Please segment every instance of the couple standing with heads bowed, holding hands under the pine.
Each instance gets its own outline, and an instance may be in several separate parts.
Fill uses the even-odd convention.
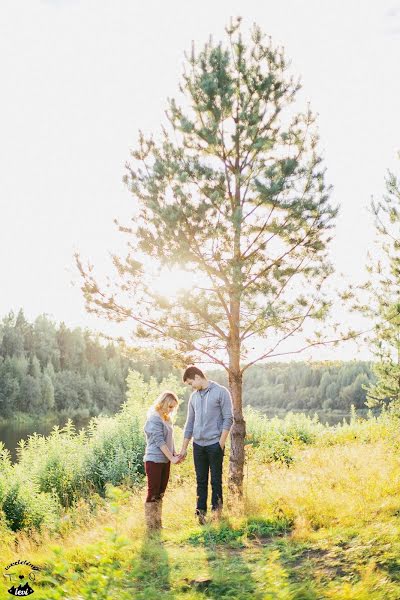
[[[197,481],[196,515],[204,524],[207,513],[208,478],[211,473],[211,504],[214,514],[222,509],[222,463],[225,442],[233,423],[232,398],[226,387],[207,379],[195,366],[186,368],[183,383],[189,385],[190,395],[184,440],[179,453],[175,452],[172,415],[179,401],[174,392],[160,394],[147,414],[144,431],[144,455],[147,475],[145,502],[146,524],[149,530],[161,525],[162,499],[167,488],[171,463],[185,460],[187,447],[193,437],[193,459]]]

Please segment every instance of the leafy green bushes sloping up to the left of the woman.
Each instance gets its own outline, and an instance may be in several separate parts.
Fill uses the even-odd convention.
[[[14,465],[0,446],[0,509],[11,529],[56,526],[61,509],[81,498],[105,497],[110,484],[142,483],[146,409],[162,390],[183,386],[173,375],[146,383],[132,371],[128,379],[128,399],[114,417],[94,417],[79,433],[69,420],[47,437],[33,434],[21,440]]]

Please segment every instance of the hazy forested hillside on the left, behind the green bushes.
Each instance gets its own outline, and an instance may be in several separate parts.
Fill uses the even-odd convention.
[[[46,315],[29,323],[20,310],[0,323],[0,418],[85,418],[115,413],[124,401],[129,368],[160,381],[171,365],[139,349],[104,345],[87,329],[56,326]]]

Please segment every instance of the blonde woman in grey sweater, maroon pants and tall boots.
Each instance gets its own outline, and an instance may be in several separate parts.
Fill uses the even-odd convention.
[[[175,454],[171,419],[178,404],[174,392],[163,392],[149,409],[144,426],[146,450],[143,461],[147,475],[145,516],[149,530],[162,527],[162,498],[167,488],[171,462],[180,462],[180,457]]]

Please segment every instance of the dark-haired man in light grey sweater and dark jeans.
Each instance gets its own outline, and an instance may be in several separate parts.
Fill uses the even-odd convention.
[[[187,367],[183,383],[194,391],[188,403],[184,440],[180,458],[187,454],[193,436],[193,458],[197,480],[196,515],[204,525],[207,513],[208,474],[211,473],[211,505],[214,515],[221,514],[222,463],[225,442],[233,423],[232,398],[229,390],[216,381],[207,379],[195,366]]]

